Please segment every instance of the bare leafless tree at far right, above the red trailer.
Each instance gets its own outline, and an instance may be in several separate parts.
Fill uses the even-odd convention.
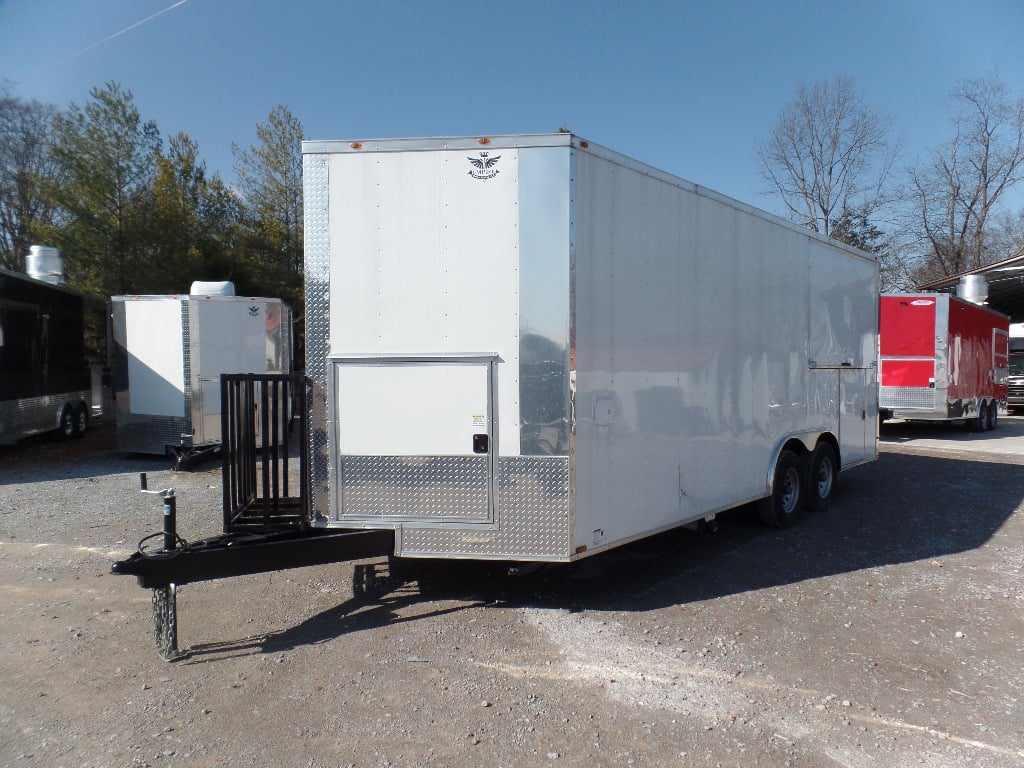
[[[953,137],[910,171],[914,211],[928,253],[922,280],[957,274],[1012,255],[992,237],[993,213],[1024,178],[1024,99],[995,78],[953,91]]]

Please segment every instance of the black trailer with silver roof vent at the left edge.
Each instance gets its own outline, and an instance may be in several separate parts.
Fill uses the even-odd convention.
[[[0,269],[0,442],[49,430],[81,437],[94,415],[85,343],[93,302],[63,287],[55,248],[33,246],[27,266]]]

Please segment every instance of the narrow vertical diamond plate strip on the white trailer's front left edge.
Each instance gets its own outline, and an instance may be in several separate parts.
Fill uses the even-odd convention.
[[[328,202],[328,156],[302,156],[305,221],[306,376],[312,382],[309,419],[309,485],[312,513],[330,516],[328,482],[331,463],[327,428],[327,353],[330,347],[331,239]]]

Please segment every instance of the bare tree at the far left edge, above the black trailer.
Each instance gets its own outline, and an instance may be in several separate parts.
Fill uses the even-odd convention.
[[[54,221],[44,193],[60,182],[54,161],[56,110],[15,98],[0,87],[0,266],[25,270],[25,255],[40,229]]]

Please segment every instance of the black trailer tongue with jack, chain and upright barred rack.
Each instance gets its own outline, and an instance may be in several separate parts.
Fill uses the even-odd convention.
[[[163,528],[144,538],[138,551],[115,562],[114,573],[134,575],[152,589],[154,630],[160,654],[175,660],[185,654],[177,642],[177,588],[213,579],[324,565],[380,557],[394,550],[394,531],[311,528],[305,516],[307,486],[303,439],[298,477],[290,452],[290,406],[304,413],[301,376],[242,374],[221,379],[224,532],[186,542],[177,532],[174,488],[143,493],[163,501]],[[305,430],[302,436],[305,437]],[[297,495],[293,492],[297,490]],[[147,546],[160,540],[160,549]]]

